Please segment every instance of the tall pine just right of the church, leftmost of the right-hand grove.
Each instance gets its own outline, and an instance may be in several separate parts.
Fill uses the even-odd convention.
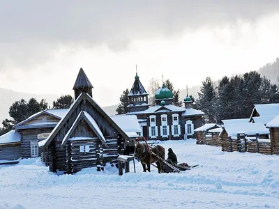
[[[210,77],[206,77],[202,82],[200,91],[199,99],[196,102],[198,109],[204,111],[209,123],[216,122],[216,92]]]

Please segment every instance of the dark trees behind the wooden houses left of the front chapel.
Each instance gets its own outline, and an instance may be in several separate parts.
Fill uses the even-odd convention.
[[[60,98],[52,102],[52,109],[68,109],[73,102],[74,100],[71,95],[61,95]],[[8,112],[10,119],[6,118],[2,122],[3,127],[0,127],[0,136],[12,130],[13,126],[17,123],[20,123],[33,114],[45,109],[51,109],[45,99],[40,100],[40,102],[38,102],[35,98],[31,98],[28,102],[24,99],[14,102],[10,106]]]

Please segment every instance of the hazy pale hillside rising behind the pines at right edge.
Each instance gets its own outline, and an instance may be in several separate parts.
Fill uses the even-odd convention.
[[[279,84],[279,58],[273,63],[268,63],[262,68],[259,68],[258,72],[264,75],[267,79],[271,80],[272,84]],[[279,85],[278,85],[279,86]]]

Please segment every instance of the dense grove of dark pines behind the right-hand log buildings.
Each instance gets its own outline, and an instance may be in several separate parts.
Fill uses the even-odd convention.
[[[257,71],[231,78],[225,76],[216,84],[206,77],[198,95],[197,108],[204,111],[208,123],[250,118],[253,104],[279,102],[278,86]]]

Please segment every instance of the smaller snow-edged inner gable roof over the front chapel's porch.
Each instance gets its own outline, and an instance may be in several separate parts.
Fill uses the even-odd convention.
[[[88,114],[88,112],[86,112],[86,111],[81,111],[80,114],[77,116],[77,118],[75,119],[75,122],[73,123],[73,125],[70,127],[67,134],[63,138],[61,145],[65,146],[66,142],[70,138],[70,135],[73,134],[78,123],[80,123],[80,121],[82,119],[84,119],[84,121],[86,121],[88,123],[88,125],[91,127],[93,132],[97,135],[98,139],[100,139],[100,141],[102,141],[103,144],[105,144],[105,146],[107,146],[107,142],[105,141],[105,137],[103,136],[103,133],[100,130],[100,127],[98,126],[96,121],[92,118],[92,116],[90,114]],[[80,137],[82,137],[82,136],[80,136]]]

